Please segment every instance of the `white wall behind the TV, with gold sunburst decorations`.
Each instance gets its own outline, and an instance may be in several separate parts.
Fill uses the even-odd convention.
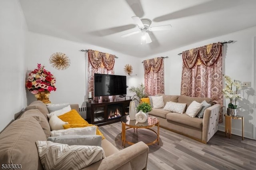
[[[114,54],[118,57],[115,62],[115,74],[124,75],[124,65],[131,64],[134,68],[134,74],[138,72],[139,59],[129,55],[124,55],[110,49],[97,47],[90,44],[81,44],[71,42],[60,38],[46,36],[28,32],[28,43],[26,49],[26,71],[29,73],[36,68],[37,63],[45,65],[45,69],[50,71],[56,77],[56,91],[50,94],[52,103],[78,103],[83,105],[86,94],[86,58],[85,52],[80,49],[94,49],[106,53]],[[49,63],[49,58],[53,53],[62,52],[70,58],[70,67],[66,70],[57,70]],[[137,85],[136,76],[127,76],[127,85]],[[36,98],[27,91],[28,104],[35,101]]]

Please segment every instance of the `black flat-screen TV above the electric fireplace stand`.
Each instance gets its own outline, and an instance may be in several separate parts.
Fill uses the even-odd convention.
[[[126,76],[94,73],[94,97],[126,95]]]

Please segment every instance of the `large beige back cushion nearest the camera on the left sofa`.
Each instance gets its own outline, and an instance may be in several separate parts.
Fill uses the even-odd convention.
[[[0,134],[0,164],[21,164],[24,170],[43,170],[36,140],[46,140],[46,136],[34,117],[12,122]]]

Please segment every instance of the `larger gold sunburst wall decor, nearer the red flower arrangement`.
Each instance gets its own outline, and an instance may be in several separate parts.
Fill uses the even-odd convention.
[[[70,66],[70,59],[64,53],[53,53],[49,61],[52,67],[58,70],[64,70]]]

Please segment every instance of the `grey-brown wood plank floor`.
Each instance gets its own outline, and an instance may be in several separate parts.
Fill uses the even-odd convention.
[[[121,123],[99,127],[105,138],[119,150],[121,143]],[[156,127],[153,128],[157,130]],[[127,130],[126,140],[132,142],[154,140],[156,134],[150,130]],[[126,147],[129,145],[126,144]],[[218,131],[207,144],[203,144],[181,134],[160,128],[160,144],[149,146],[148,170],[256,170],[256,140],[232,135],[225,137]]]

